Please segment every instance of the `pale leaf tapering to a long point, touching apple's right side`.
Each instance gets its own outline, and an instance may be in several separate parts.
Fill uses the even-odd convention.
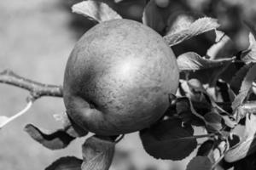
[[[204,59],[199,54],[188,52],[177,57],[177,65],[180,71],[197,71],[227,65],[234,59]]]

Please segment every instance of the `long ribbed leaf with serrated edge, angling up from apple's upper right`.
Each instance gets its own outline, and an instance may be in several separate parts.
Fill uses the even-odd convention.
[[[180,27],[179,30],[167,34],[164,39],[170,45],[176,45],[177,43],[183,42],[191,37],[200,35],[201,33],[211,31],[218,28],[218,22],[215,19],[204,17],[191,24]]]

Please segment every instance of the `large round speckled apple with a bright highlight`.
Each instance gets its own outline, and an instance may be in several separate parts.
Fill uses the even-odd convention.
[[[98,135],[132,133],[160,119],[176,94],[177,61],[160,35],[134,20],[102,22],[67,61],[67,114]]]

